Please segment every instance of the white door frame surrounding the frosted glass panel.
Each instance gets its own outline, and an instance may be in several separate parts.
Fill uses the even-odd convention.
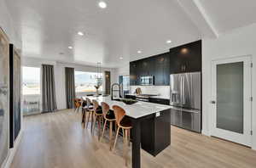
[[[216,101],[216,66],[217,64],[228,64],[228,63],[244,63],[243,80],[244,82],[243,95],[244,95],[244,111],[250,111],[249,113],[244,113],[243,119],[243,134],[236,132],[230,132],[227,130],[222,130],[216,127],[216,104],[212,104],[212,113],[209,115],[210,119],[210,136],[224,138],[235,143],[241,143],[243,145],[251,147],[252,145],[252,57],[251,56],[241,56],[241,57],[231,57],[226,59],[214,59],[212,60],[212,100]]]

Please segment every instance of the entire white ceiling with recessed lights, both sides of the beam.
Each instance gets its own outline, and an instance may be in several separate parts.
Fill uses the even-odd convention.
[[[105,9],[98,8],[97,0],[6,3],[21,36],[24,56],[120,67],[127,61],[164,53],[205,36],[201,25],[191,20],[179,1],[182,0],[106,0]],[[241,0],[194,1],[206,9],[219,32],[256,21],[253,0],[247,0],[247,4]],[[83,31],[84,36],[78,36],[78,31]],[[172,43],[166,44],[169,39]]]

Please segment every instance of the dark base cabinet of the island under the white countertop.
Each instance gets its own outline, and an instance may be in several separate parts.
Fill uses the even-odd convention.
[[[160,112],[160,116],[152,115],[141,123],[142,148],[156,156],[171,144],[170,109]]]

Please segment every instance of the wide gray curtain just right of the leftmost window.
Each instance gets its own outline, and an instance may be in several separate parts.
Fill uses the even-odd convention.
[[[42,65],[42,111],[54,112],[57,109],[55,96],[55,74],[53,65]]]

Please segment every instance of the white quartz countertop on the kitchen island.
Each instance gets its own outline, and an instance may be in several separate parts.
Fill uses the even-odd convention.
[[[92,99],[96,99],[99,104],[105,102],[109,105],[110,109],[112,109],[113,105],[119,105],[119,107],[125,109],[126,115],[130,116],[131,118],[140,118],[146,115],[152,115],[154,113],[171,109],[170,105],[163,105],[163,104],[154,104],[148,102],[141,102],[138,101],[136,104],[125,104],[120,101],[111,100],[110,97],[87,97]]]

